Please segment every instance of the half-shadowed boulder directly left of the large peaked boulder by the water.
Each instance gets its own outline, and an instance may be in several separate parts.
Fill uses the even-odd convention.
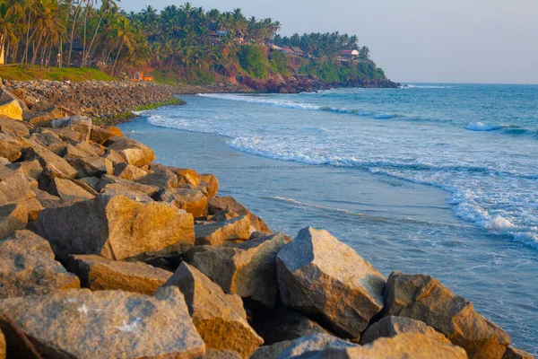
[[[195,247],[187,252],[186,258],[221,285],[224,292],[274,308],[278,295],[276,255],[290,241],[290,237],[278,233],[229,247]]]

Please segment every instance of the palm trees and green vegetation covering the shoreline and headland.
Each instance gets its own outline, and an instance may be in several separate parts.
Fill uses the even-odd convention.
[[[369,48],[360,47],[355,35],[288,38],[277,34],[280,22],[247,18],[240,9],[222,13],[186,3],[161,12],[147,5],[139,13],[126,13],[118,3],[0,0],[0,51],[5,51],[6,63],[17,64],[0,66],[0,76],[82,81],[142,71],[168,84],[206,84],[230,77],[267,80],[298,71],[329,82],[384,78],[369,59]],[[284,54],[270,45],[294,50]],[[359,55],[339,58],[342,49],[358,50]]]

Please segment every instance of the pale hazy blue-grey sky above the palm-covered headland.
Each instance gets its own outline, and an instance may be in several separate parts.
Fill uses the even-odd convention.
[[[193,0],[272,17],[282,35],[357,34],[397,82],[538,83],[538,0]],[[123,0],[126,11],[178,0]]]

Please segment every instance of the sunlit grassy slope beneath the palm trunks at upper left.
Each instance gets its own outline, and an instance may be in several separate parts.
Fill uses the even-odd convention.
[[[108,74],[92,68],[25,68],[17,65],[0,66],[0,78],[13,81],[69,80],[73,83],[86,80],[112,80],[112,77],[108,76]]]

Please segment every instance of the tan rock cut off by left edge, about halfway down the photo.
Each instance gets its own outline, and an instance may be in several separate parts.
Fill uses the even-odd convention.
[[[30,182],[20,170],[0,168],[0,206],[18,203],[36,197]]]

